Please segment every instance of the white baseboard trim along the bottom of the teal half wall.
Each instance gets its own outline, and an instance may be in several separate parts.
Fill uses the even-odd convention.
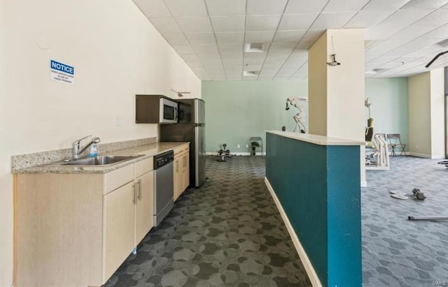
[[[309,281],[311,281],[311,285],[321,287],[322,286],[321,281],[319,280],[313,265],[311,265],[311,261],[309,260],[307,253],[305,252],[305,249],[303,248],[302,244],[300,244],[299,238],[297,237],[297,234],[295,234],[294,228],[291,225],[285,211],[283,210],[279,198],[277,198],[274,189],[272,189],[272,186],[269,183],[269,179],[267,179],[267,177],[265,177],[265,184],[267,186],[267,189],[269,190],[269,193],[271,193],[272,198],[274,198],[274,203],[277,206],[277,209],[279,209],[281,219],[283,219],[283,222],[286,225],[286,229],[288,229],[288,233],[291,237],[291,240],[293,240],[295,250],[299,254],[300,260],[302,260],[305,272],[307,272]]]

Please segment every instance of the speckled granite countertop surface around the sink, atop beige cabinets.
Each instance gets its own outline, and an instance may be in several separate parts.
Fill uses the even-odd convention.
[[[110,165],[62,165],[66,162],[57,161],[45,165],[36,165],[31,168],[22,168],[20,170],[15,170],[14,173],[106,173],[188,143],[189,142],[155,142],[149,145],[139,145],[138,147],[130,147],[127,149],[119,149],[114,152],[108,152],[106,154],[99,154],[100,156],[141,155],[128,161],[112,163]]]

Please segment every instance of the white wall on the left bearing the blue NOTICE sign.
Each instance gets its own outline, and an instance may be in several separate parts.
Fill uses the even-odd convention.
[[[10,156],[69,148],[90,134],[102,142],[157,136],[158,125],[134,124],[135,94],[200,98],[201,82],[132,1],[0,5],[0,286],[10,286]],[[50,59],[74,66],[73,85],[50,80]]]

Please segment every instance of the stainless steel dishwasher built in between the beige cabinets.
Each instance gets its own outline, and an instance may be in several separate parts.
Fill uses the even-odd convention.
[[[154,156],[154,224],[158,226],[174,207],[174,152]]]

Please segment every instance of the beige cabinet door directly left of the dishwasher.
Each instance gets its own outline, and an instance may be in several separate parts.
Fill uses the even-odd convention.
[[[137,206],[135,209],[135,246],[154,226],[153,171],[136,179]]]

